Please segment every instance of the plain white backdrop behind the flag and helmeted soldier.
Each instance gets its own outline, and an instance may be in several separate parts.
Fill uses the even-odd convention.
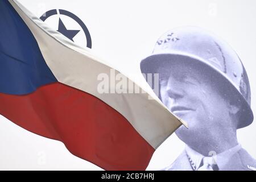
[[[256,1],[254,0],[168,0],[168,1],[82,1],[18,0],[36,16],[51,9],[64,9],[79,16],[92,36],[92,51],[135,77],[139,62],[150,55],[156,40],[178,26],[199,26],[221,36],[236,50],[251,84],[251,107],[256,107]],[[56,15],[57,16],[57,15]],[[61,18],[68,29],[79,26]],[[46,22],[57,30],[56,20]],[[75,42],[85,46],[79,32]],[[256,123],[238,130],[238,140],[256,158]],[[184,144],[171,135],[156,150],[147,169],[170,165]],[[40,137],[16,126],[0,115],[0,169],[101,169],[72,155],[64,144]]]

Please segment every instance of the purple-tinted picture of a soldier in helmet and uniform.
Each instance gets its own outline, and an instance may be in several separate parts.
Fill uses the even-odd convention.
[[[175,131],[184,151],[163,170],[255,170],[237,130],[253,122],[249,78],[228,43],[200,27],[167,31],[141,61],[159,74],[158,97],[188,123]]]

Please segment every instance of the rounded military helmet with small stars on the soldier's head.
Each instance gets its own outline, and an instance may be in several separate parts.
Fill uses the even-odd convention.
[[[142,73],[157,73],[163,61],[188,60],[204,65],[220,75],[237,94],[241,114],[237,128],[253,122],[247,73],[237,53],[224,40],[199,27],[179,27],[167,31],[155,44],[152,55],[141,61]]]

